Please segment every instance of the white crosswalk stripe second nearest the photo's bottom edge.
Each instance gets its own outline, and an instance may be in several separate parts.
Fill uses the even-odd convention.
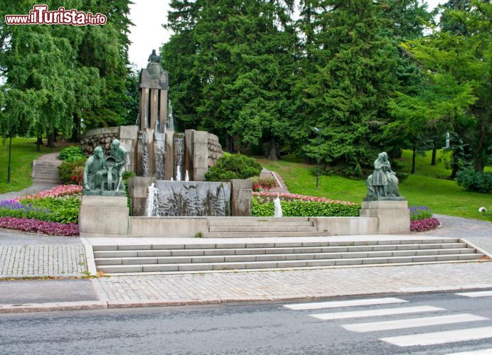
[[[380,338],[380,340],[397,346],[415,346],[466,342],[468,340],[487,338],[492,338],[492,327],[457,329],[449,330],[446,332],[403,335],[400,337]]]

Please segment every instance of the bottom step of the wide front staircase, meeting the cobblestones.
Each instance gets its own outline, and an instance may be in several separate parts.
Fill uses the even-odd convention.
[[[320,266],[356,266],[386,263],[429,263],[446,261],[472,261],[483,257],[481,253],[446,254],[437,256],[395,256],[374,258],[338,258],[338,259],[308,259],[285,261],[252,261],[228,263],[173,263],[173,264],[135,264],[99,266],[98,271],[107,274],[117,273],[151,273],[176,271],[213,271],[234,269],[274,269],[274,268],[309,268]]]

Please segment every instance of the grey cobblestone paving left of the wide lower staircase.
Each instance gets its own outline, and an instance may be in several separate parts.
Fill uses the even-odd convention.
[[[0,278],[80,276],[86,270],[82,245],[0,246]]]

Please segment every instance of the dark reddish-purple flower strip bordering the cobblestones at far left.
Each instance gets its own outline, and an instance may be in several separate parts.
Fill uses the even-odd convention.
[[[75,223],[46,222],[38,219],[0,217],[0,227],[49,234],[52,236],[78,236],[79,226]]]

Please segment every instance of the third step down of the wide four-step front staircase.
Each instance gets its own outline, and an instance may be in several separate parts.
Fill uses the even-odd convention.
[[[173,263],[236,263],[256,261],[291,261],[314,259],[346,258],[390,258],[397,256],[439,256],[475,253],[475,249],[427,249],[411,251],[354,251],[346,253],[278,253],[261,255],[210,255],[210,256],[161,256],[136,258],[95,258],[96,265],[133,265],[133,264],[173,264]]]

